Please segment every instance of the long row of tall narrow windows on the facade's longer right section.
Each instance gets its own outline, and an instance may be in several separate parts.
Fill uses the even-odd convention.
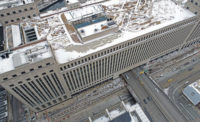
[[[73,92],[88,84],[93,85],[93,82],[182,44],[191,29],[192,26],[187,25],[154,40],[137,46],[129,46],[97,61],[73,68],[63,74],[66,85]]]

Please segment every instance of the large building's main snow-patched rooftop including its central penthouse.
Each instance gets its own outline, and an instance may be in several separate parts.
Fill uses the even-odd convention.
[[[21,35],[23,44],[29,43],[30,40],[47,39],[55,59],[59,64],[63,64],[193,16],[195,15],[192,12],[171,0],[153,0],[139,5],[135,0],[109,0],[75,10],[48,13],[46,17],[42,15],[24,20],[19,24],[22,28],[20,32],[17,26],[11,26],[11,29],[17,30],[13,37]],[[31,33],[34,37],[31,35],[28,38],[26,33],[24,34],[26,29],[32,29],[28,36]],[[103,34],[105,29],[110,32]],[[99,34],[101,32],[102,34]],[[93,35],[96,38],[83,41],[83,38]],[[19,44],[20,41],[13,42],[14,47]],[[4,60],[1,59],[0,62]],[[0,66],[0,69],[3,67]]]

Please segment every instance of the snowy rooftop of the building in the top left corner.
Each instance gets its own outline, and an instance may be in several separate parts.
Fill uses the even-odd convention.
[[[33,3],[34,0],[1,0],[0,1],[0,10],[12,8],[24,4]]]

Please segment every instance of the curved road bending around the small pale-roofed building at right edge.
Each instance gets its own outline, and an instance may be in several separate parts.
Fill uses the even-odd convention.
[[[192,70],[188,70],[193,67]],[[171,77],[174,80],[174,83],[169,87],[168,96],[174,102],[179,109],[182,110],[183,114],[187,116],[189,121],[198,120],[200,116],[195,109],[192,108],[191,103],[184,99],[182,94],[182,89],[188,84],[195,82],[200,79],[200,63],[192,65],[189,68],[184,69],[182,72]],[[188,83],[186,83],[188,81]]]

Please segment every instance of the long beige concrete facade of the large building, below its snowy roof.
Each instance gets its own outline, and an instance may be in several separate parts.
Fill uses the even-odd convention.
[[[54,57],[0,75],[0,84],[35,112],[171,51],[199,42],[195,16],[109,48],[58,64]]]

